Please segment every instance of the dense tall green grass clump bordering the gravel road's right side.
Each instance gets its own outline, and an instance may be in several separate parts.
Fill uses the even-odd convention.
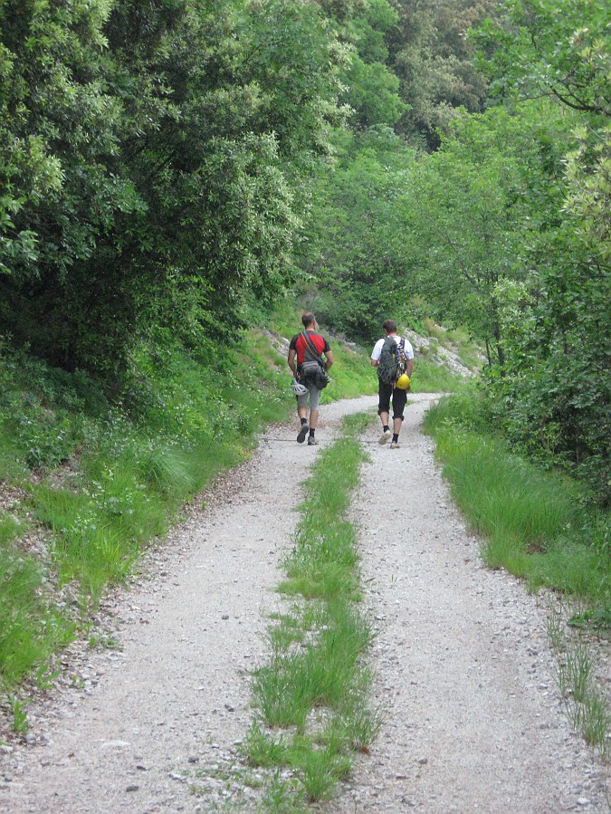
[[[512,455],[469,410],[460,399],[442,402],[425,428],[435,436],[454,498],[482,533],[486,562],[533,589],[545,585],[609,608],[608,514],[588,509],[567,477]]]

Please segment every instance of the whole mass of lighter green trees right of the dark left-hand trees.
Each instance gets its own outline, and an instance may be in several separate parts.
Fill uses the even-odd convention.
[[[466,326],[487,351],[491,421],[608,503],[608,15],[588,0],[508,2],[485,24],[483,4],[402,7],[413,25],[407,39],[396,26],[389,53],[410,66],[412,107],[395,131],[380,119],[337,137],[298,254],[305,284],[318,281],[311,302],[362,340],[388,315],[415,326],[423,301]],[[451,48],[458,19],[469,35]],[[433,70],[455,79],[459,64],[473,82],[463,72],[462,101],[450,82],[435,108]]]

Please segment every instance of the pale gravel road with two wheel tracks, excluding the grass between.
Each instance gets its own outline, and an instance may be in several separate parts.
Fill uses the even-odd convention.
[[[571,732],[555,683],[544,603],[482,567],[434,468],[414,396],[399,449],[362,440],[355,500],[377,637],[370,659],[384,724],[353,778],[320,810],[557,814],[609,810],[608,770]],[[27,743],[0,747],[0,810],[114,814],[254,812],[226,795],[252,720],[248,671],[263,664],[279,560],[308,466],[365,397],[321,408],[319,447],[271,427],[209,508],[190,512],[140,577],[102,608],[100,638],[75,643],[58,686],[27,708]],[[382,484],[396,485],[389,511]],[[607,664],[608,668],[608,664]],[[239,786],[239,782],[238,782]]]

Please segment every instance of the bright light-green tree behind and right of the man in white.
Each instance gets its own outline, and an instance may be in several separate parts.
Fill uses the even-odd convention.
[[[415,165],[402,198],[421,291],[441,319],[466,324],[485,342],[490,362],[501,365],[496,286],[525,275],[521,244],[530,232],[521,112],[454,120],[440,149]]]

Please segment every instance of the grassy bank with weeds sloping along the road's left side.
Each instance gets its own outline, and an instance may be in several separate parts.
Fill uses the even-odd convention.
[[[7,343],[0,382],[0,489],[21,495],[0,517],[0,687],[12,691],[74,633],[53,593],[72,583],[86,614],[293,399],[256,353],[211,360],[154,341],[134,349],[113,402]],[[26,510],[48,562],[20,553]]]

